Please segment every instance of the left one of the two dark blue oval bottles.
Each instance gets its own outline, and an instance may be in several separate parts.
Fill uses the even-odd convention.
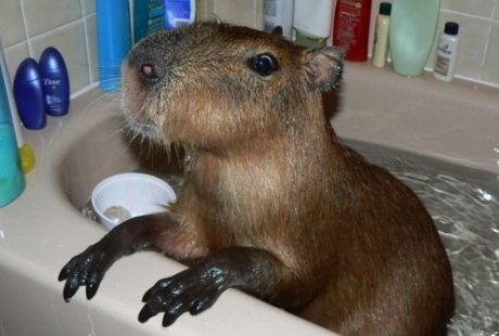
[[[27,129],[42,129],[47,125],[43,83],[37,61],[24,60],[14,77],[14,98],[21,121]]]

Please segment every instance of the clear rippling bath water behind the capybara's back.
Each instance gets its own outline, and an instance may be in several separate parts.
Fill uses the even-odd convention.
[[[423,201],[452,267],[452,336],[499,336],[499,179],[497,175],[357,141]]]

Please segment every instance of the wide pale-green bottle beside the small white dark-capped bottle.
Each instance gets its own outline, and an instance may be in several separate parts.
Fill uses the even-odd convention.
[[[415,77],[423,73],[435,40],[440,0],[396,0],[392,4],[389,51],[394,70]]]

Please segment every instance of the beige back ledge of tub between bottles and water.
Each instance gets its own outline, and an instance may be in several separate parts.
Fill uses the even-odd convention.
[[[499,173],[497,88],[347,62],[337,111],[340,137]]]

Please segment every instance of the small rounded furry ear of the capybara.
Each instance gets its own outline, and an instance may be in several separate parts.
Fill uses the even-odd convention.
[[[308,85],[321,92],[335,89],[342,79],[344,51],[336,47],[309,50],[305,55]]]

